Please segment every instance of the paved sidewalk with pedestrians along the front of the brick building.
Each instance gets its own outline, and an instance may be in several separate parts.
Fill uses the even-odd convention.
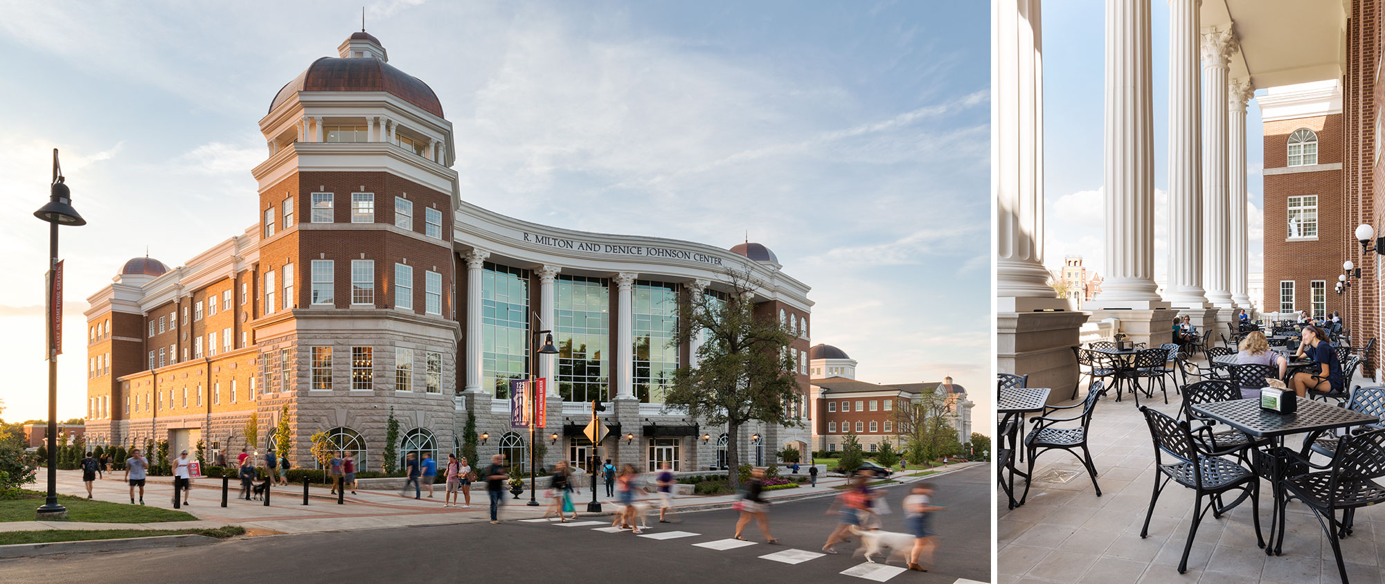
[[[935,477],[942,473],[985,465],[986,462],[965,462],[949,465],[939,469]],[[913,473],[915,471],[910,471]],[[802,475],[802,473],[801,473]],[[96,500],[111,502],[129,502],[129,486],[120,480],[122,472],[107,472],[105,479],[94,483],[93,494]],[[787,475],[795,476],[795,475]],[[899,476],[896,480],[909,483],[921,480],[920,477]],[[798,489],[774,490],[765,494],[770,501],[792,501],[809,497],[825,497],[838,493],[834,486],[845,483],[843,477],[825,477],[817,480],[817,487],[801,486]],[[43,484],[30,489],[42,490]],[[150,477],[144,489],[145,505],[155,505],[166,509],[173,508],[172,477]],[[86,495],[80,471],[58,471],[58,493],[71,495]],[[402,497],[397,491],[357,491],[346,494],[345,504],[338,505],[337,497],[330,494],[327,487],[309,487],[309,504],[303,505],[303,484],[289,487],[271,487],[270,507],[263,501],[245,501],[235,498],[240,493],[237,482],[231,483],[227,497],[227,507],[222,508],[222,480],[194,479],[190,504],[180,511],[198,518],[194,522],[161,522],[161,523],[78,523],[78,522],[0,522],[0,531],[46,530],[46,529],[181,529],[181,527],[222,527],[237,524],[258,533],[312,533],[312,531],[345,531],[356,529],[385,529],[385,527],[413,527],[447,523],[474,523],[489,520],[489,502],[485,486],[472,487],[471,508],[443,508],[446,489],[435,486],[434,498],[428,498],[427,491],[422,500]],[[543,490],[539,491],[543,494]],[[644,497],[648,498],[648,497]],[[708,508],[730,507],[737,498],[729,495],[683,495],[674,504],[674,509],[698,511]],[[605,495],[604,486],[597,487],[597,501],[602,504],[602,515],[609,513],[615,505],[614,497]],[[591,501],[591,493],[586,489],[580,494],[573,494],[573,505],[579,515],[584,515],[586,504]],[[501,520],[535,519],[543,516],[547,505],[540,498],[539,507],[528,507],[529,493],[525,491],[519,500],[506,493],[506,505],[500,509]]]

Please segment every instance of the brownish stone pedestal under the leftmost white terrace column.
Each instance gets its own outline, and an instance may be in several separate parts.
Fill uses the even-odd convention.
[[[1029,375],[1030,387],[1048,387],[1048,403],[1072,397],[1078,385],[1078,346],[1087,313],[1078,311],[1000,311],[996,313],[1000,372]]]

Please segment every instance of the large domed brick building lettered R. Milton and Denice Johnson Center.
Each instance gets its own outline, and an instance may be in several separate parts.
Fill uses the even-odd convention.
[[[662,401],[673,369],[697,354],[695,342],[669,345],[679,300],[724,298],[729,270],[763,282],[755,310],[794,331],[809,386],[809,286],[769,248],[584,232],[476,208],[461,197],[452,123],[432,89],[366,32],[338,53],[287,83],[259,122],[253,224],[179,267],[132,259],[90,296],[94,444],[265,451],[287,407],[298,466],[310,465],[309,436],[325,432],[378,469],[391,415],[400,457],[436,457],[458,448],[475,414],[482,457],[526,461],[510,393],[536,375],[547,386],[540,464],[591,454],[582,426],[598,400],[612,436],[597,454],[713,466],[724,428]],[[542,331],[560,353],[533,358]],[[787,405],[807,415],[806,396]],[[742,459],[759,462],[809,441],[801,428],[742,432]]]

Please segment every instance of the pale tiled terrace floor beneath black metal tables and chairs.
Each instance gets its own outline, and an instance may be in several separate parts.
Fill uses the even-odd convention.
[[[1352,385],[1382,383],[1356,378]],[[1071,394],[1072,387],[1066,392]],[[1084,381],[1079,397],[1086,397]],[[1141,397],[1140,404],[1177,417],[1180,400],[1181,396],[1174,394],[1170,386],[1168,405],[1158,392],[1152,400]],[[1068,410],[1055,415],[1066,418],[1076,412]],[[1073,423],[1060,422],[1058,426]],[[1032,428],[1032,423],[1026,426]],[[1114,393],[1097,403],[1089,444],[1101,497],[1096,495],[1082,464],[1061,450],[1040,454],[1035,476],[1047,480],[1033,482],[1024,507],[1007,509],[1004,493],[996,490],[1000,584],[1341,581],[1327,536],[1313,512],[1298,501],[1288,505],[1284,555],[1266,556],[1256,547],[1251,505],[1245,501],[1222,519],[1210,512],[1202,519],[1188,555],[1188,572],[1179,574],[1194,493],[1169,482],[1150,520],[1150,536],[1140,538],[1154,487],[1154,443],[1144,417],[1129,394],[1120,403],[1115,401]],[[1285,440],[1285,446],[1298,444],[1302,444],[1302,436],[1296,441],[1294,436]],[[1060,482],[1051,471],[1071,479]],[[1015,491],[1017,497],[1024,491],[1022,477],[1015,477]],[[1269,493],[1269,482],[1262,482],[1260,523],[1266,533],[1271,507]],[[1385,505],[1357,511],[1355,534],[1342,540],[1342,558],[1352,584],[1382,583]]]

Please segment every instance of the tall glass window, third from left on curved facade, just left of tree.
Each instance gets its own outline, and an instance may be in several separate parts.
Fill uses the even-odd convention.
[[[634,394],[641,403],[662,404],[679,368],[679,347],[672,343],[679,329],[677,285],[636,281],[633,295]]]

